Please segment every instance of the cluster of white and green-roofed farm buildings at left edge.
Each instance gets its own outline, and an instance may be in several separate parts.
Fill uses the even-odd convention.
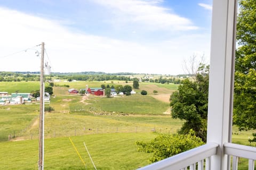
[[[12,93],[0,92],[0,105],[17,105],[31,103],[32,100],[40,100],[39,97],[34,98],[30,93]],[[44,101],[50,101],[50,94],[45,92]]]

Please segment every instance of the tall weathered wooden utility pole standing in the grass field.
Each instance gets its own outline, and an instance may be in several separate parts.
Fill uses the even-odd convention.
[[[39,113],[39,160],[38,170],[44,169],[44,43],[41,44],[41,71],[40,71],[40,113]]]

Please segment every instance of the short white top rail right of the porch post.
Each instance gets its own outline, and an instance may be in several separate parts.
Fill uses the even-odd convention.
[[[243,157],[247,159],[256,160],[256,148],[235,143],[225,143],[224,153],[227,155]]]

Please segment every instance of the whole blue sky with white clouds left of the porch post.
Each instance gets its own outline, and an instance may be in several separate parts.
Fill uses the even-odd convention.
[[[0,71],[182,74],[210,55],[210,0],[0,0]],[[26,50],[28,49],[28,50]],[[25,52],[26,50],[26,52]]]

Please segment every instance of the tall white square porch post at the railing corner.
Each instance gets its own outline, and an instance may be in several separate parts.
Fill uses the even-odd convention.
[[[212,170],[229,169],[223,144],[231,142],[237,0],[213,0],[207,142],[219,144]]]

